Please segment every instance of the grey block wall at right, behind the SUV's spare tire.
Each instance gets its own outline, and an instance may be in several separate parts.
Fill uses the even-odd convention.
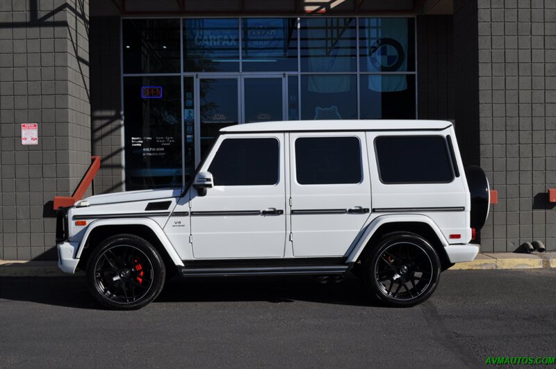
[[[498,204],[482,251],[556,249],[556,2],[479,0],[480,165]]]

